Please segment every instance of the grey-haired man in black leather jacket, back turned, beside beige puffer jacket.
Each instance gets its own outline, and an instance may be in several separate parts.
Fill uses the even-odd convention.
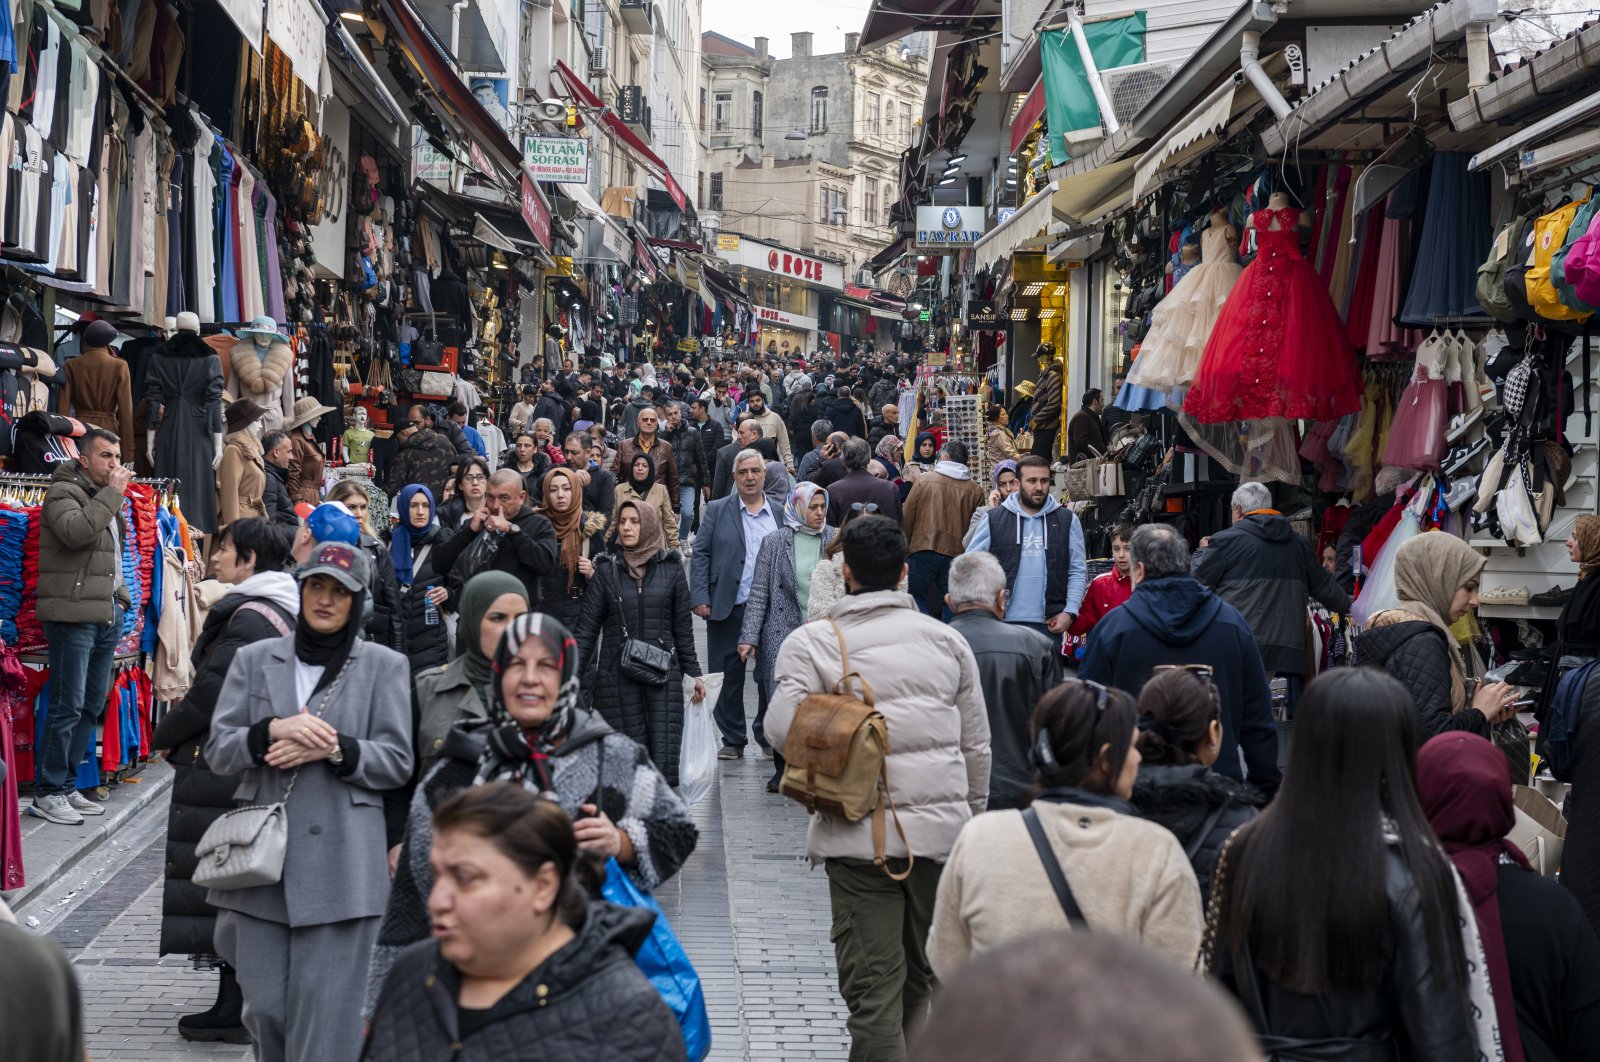
[[[1061,683],[1061,653],[1037,630],[1005,622],[1005,571],[990,553],[962,553],[950,563],[944,603],[955,613],[950,627],[973,646],[989,710],[989,809],[1021,808],[1034,785],[1034,705]]]

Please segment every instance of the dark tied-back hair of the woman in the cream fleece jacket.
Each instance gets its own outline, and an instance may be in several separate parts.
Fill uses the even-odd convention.
[[[1109,795],[1133,745],[1136,718],[1133,697],[1122,689],[1069,680],[1046,693],[1034,709],[1030,755],[1038,787]]]

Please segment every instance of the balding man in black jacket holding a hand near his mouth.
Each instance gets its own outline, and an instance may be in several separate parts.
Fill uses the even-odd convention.
[[[528,488],[515,469],[490,477],[483,509],[454,536],[434,547],[435,571],[462,585],[480,571],[509,571],[522,579],[528,603],[539,606],[539,577],[555,571],[560,545],[550,521],[528,507]]]

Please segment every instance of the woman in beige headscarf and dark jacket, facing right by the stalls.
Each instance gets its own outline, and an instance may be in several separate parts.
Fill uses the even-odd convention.
[[[1478,606],[1485,558],[1446,531],[1419,534],[1395,552],[1398,608],[1378,616],[1357,641],[1363,664],[1398,678],[1416,702],[1421,733],[1472,731],[1488,737],[1515,715],[1517,691],[1480,685],[1467,696],[1467,664],[1450,625]]]

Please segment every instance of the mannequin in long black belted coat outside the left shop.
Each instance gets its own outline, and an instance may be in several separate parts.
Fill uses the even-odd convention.
[[[216,467],[222,462],[222,363],[200,339],[195,313],[179,313],[176,326],[144,366],[147,451],[155,475],[181,481],[190,526],[210,534],[216,531]]]

